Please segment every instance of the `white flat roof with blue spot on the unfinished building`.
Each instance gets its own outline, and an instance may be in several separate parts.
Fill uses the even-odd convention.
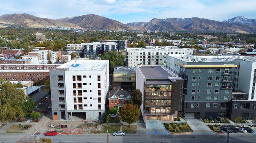
[[[72,60],[56,69],[68,68],[68,70],[103,70],[108,60]]]

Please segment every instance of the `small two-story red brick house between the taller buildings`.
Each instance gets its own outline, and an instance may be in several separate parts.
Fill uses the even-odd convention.
[[[119,88],[110,90],[108,95],[109,109],[114,106],[118,108],[122,107],[124,104],[128,103],[130,99],[131,92]]]

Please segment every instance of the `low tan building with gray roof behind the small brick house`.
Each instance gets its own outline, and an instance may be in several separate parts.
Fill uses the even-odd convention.
[[[115,67],[113,72],[113,85],[131,88],[136,82],[136,67]]]

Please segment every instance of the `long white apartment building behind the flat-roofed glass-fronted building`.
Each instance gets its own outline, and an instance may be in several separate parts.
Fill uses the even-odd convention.
[[[175,49],[173,49],[175,48]],[[166,62],[167,54],[193,54],[195,49],[176,49],[176,47],[126,48],[126,64],[128,67],[138,65],[154,65]]]

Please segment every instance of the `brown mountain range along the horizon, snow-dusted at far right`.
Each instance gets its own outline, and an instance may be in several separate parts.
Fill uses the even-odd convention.
[[[45,25],[65,26],[70,28],[88,28],[92,30],[149,30],[149,31],[221,31],[238,33],[256,33],[256,19],[242,16],[224,21],[204,18],[153,18],[149,22],[131,22],[123,24],[119,21],[96,14],[77,17],[64,17],[57,20],[35,17],[30,14],[4,14],[0,23],[10,22],[23,27],[44,28]]]

